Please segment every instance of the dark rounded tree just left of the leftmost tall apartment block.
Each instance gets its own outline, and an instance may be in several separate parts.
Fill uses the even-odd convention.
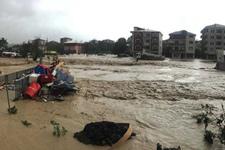
[[[127,54],[128,53],[128,46],[127,41],[125,38],[119,38],[114,46],[114,54]]]

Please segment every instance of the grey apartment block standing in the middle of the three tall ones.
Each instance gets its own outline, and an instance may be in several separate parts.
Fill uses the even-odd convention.
[[[172,58],[195,57],[195,34],[181,30],[169,34],[169,43]]]

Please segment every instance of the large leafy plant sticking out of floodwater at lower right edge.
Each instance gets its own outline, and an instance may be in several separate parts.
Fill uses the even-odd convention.
[[[222,144],[225,144],[225,110],[221,104],[222,112],[214,114],[215,107],[213,105],[201,105],[202,111],[200,114],[194,115],[193,118],[197,119],[198,124],[204,124],[205,134],[204,140],[213,144],[215,138],[218,138]],[[209,130],[211,127],[212,130]]]

